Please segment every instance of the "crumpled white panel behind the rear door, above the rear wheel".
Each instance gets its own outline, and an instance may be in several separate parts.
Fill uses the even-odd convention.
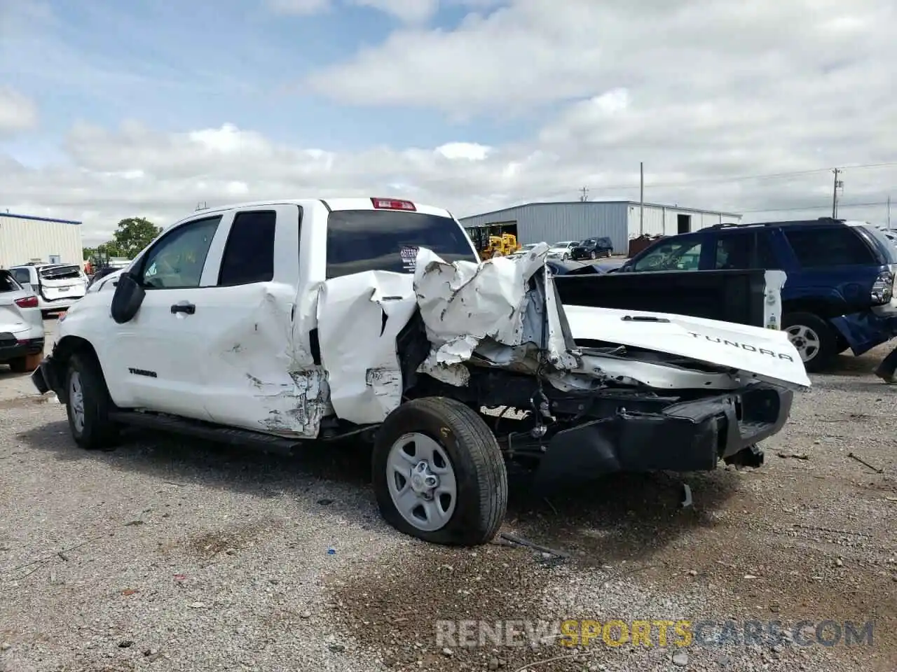
[[[318,295],[321,364],[339,418],[382,422],[402,402],[396,337],[414,314],[411,275],[367,271],[327,280]]]

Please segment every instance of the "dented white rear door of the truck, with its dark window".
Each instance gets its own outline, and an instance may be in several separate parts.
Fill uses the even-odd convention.
[[[292,204],[245,208],[222,223],[221,249],[209,255],[209,282],[190,317],[205,344],[203,398],[215,422],[317,435],[318,394],[292,356],[301,212]]]

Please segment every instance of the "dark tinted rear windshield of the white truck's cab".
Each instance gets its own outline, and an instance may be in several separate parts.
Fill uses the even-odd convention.
[[[414,272],[418,247],[447,262],[476,262],[455,220],[422,212],[348,210],[327,220],[327,279],[364,271]]]

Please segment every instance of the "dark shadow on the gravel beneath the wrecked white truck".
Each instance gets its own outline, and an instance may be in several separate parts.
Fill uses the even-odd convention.
[[[269,497],[308,493],[313,487],[317,490],[318,483],[330,482],[355,488],[373,500],[370,449],[359,442],[309,443],[298,457],[290,458],[134,429],[126,431],[117,450],[89,452],[74,445],[65,421],[22,432],[18,438],[54,453],[58,460],[100,461],[115,470],[176,485],[194,483]],[[578,552],[586,564],[642,557],[685,530],[711,526],[713,521],[704,512],[718,508],[738,478],[721,469],[687,475],[615,475],[544,498],[529,495],[527,479],[512,475],[506,521],[536,543]],[[681,507],[684,483],[692,488],[694,500],[687,509]]]

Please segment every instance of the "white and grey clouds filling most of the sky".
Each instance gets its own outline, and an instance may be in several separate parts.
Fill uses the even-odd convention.
[[[576,200],[584,185],[594,200],[636,199],[644,161],[647,200],[761,220],[827,214],[828,167],[897,161],[893,0],[481,2],[494,11],[455,30],[402,28],[312,83],[346,102],[422,108],[422,119],[523,116],[513,142],[459,132],[334,151],[217,120],[179,133],[79,123],[65,160],[45,168],[0,149],[0,205],[83,220],[95,243],[123,217],[164,224],[197,202],[405,195],[465,215]],[[840,214],[883,222],[897,168],[842,178]]]

